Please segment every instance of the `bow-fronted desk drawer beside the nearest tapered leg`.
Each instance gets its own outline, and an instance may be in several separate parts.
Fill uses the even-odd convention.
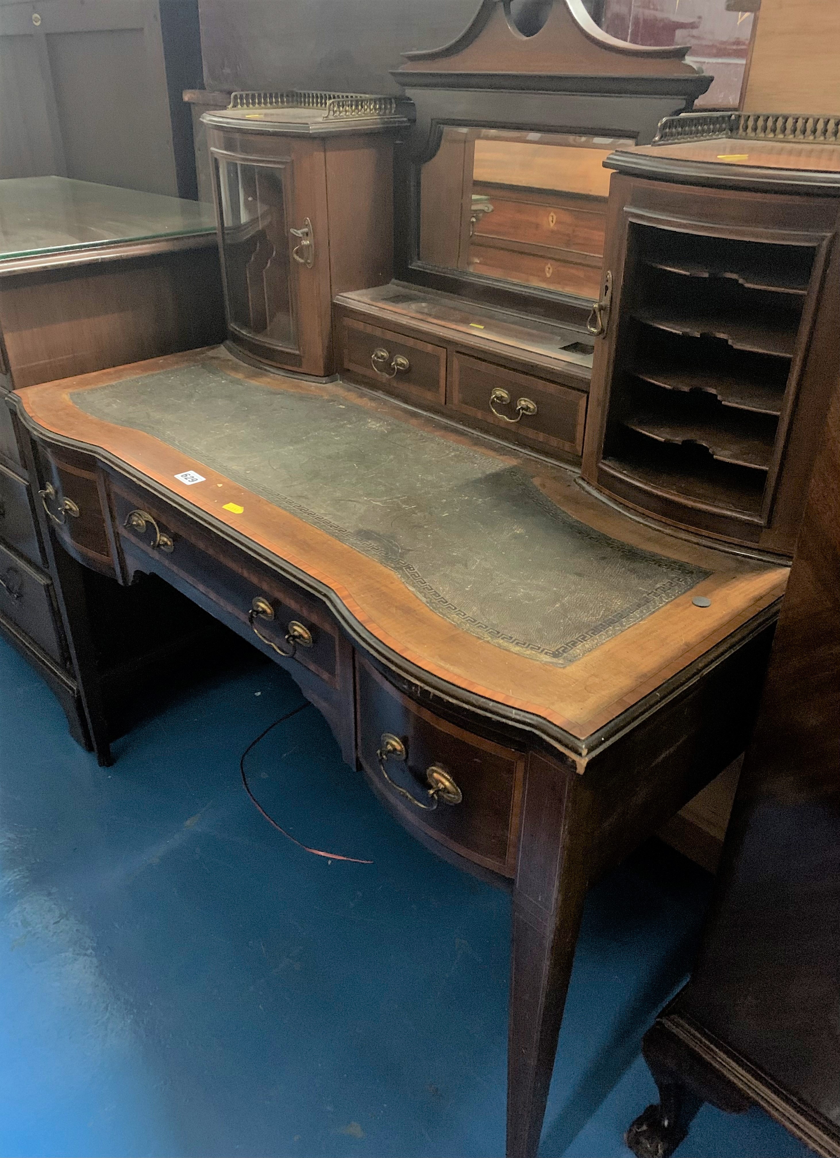
[[[514,874],[524,755],[439,719],[358,657],[357,735],[361,767],[409,827],[485,868]],[[443,786],[433,811],[431,782]],[[453,802],[445,802],[447,793]]]

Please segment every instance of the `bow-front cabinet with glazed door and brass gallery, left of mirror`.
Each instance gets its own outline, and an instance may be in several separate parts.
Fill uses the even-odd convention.
[[[333,296],[387,281],[394,97],[235,93],[202,117],[228,342],[258,364],[333,373]]]

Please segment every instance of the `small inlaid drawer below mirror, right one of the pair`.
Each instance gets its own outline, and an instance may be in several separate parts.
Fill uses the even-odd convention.
[[[448,408],[495,434],[550,454],[583,452],[587,395],[455,351]]]

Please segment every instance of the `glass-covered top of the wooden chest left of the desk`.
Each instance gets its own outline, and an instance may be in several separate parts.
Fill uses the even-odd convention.
[[[68,177],[0,181],[0,277],[214,244],[212,205]]]

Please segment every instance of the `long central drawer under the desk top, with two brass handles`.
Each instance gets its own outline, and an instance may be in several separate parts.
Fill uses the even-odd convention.
[[[185,594],[269,657],[294,659],[338,687],[338,626],[317,600],[152,496],[122,481],[111,483],[111,493],[124,551],[153,562],[136,570],[187,586]]]

